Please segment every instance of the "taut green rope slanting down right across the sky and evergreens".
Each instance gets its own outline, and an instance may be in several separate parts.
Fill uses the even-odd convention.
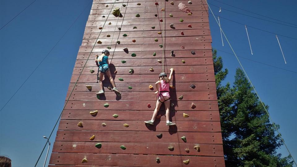
[[[211,11],[211,14],[213,15],[214,19],[216,20],[217,24],[219,25],[219,23],[218,23],[218,21],[217,21],[217,19],[216,19],[215,15],[213,14],[213,11],[211,10],[211,8],[210,8],[210,6],[209,6],[208,2],[207,2],[207,1],[205,1],[205,2],[207,3],[207,5],[208,5],[208,7],[209,7],[209,10]],[[232,46],[231,46],[231,44],[230,44],[230,42],[229,42],[229,40],[228,40],[228,38],[227,38],[227,36],[225,35],[225,33],[224,33],[224,31],[223,31],[223,30],[222,30],[222,33],[223,33],[223,35],[225,36],[225,39],[226,39],[226,41],[228,42],[228,44],[229,44],[229,46],[230,46],[230,48],[231,48],[231,50],[232,50],[233,54],[235,55],[235,57],[236,57],[237,61],[239,62],[239,65],[240,65],[240,66],[241,66],[241,68],[243,69],[243,72],[244,72],[244,74],[246,75],[246,77],[247,77],[248,81],[251,83],[251,86],[252,86],[252,88],[254,89],[254,91],[255,91],[256,95],[258,96],[258,98],[259,98],[259,100],[260,100],[260,102],[261,102],[261,104],[262,104],[263,108],[265,109],[265,112],[267,113],[267,115],[268,115],[268,117],[269,117],[270,121],[272,122],[272,125],[273,125],[273,126],[274,126],[274,128],[275,128],[275,131],[277,131],[277,132],[278,132],[278,135],[279,135],[279,137],[282,139],[282,142],[284,143],[284,145],[285,145],[285,147],[286,147],[287,151],[289,152],[289,155],[291,156],[292,160],[294,161],[295,165],[297,166],[297,164],[296,164],[296,162],[295,162],[295,160],[294,160],[294,158],[293,158],[293,156],[292,156],[292,154],[291,154],[291,152],[290,152],[289,148],[287,147],[287,145],[286,145],[286,143],[285,143],[285,140],[282,138],[282,135],[281,135],[281,133],[278,131],[278,128],[277,128],[277,126],[276,126],[276,125],[274,124],[274,122],[272,121],[272,118],[270,117],[270,115],[269,115],[269,113],[268,113],[268,111],[267,111],[267,109],[266,109],[266,107],[265,107],[264,103],[262,102],[262,100],[261,100],[261,98],[260,98],[260,96],[259,96],[258,92],[256,91],[256,88],[255,88],[255,87],[254,87],[254,85],[252,84],[252,81],[249,79],[249,77],[248,77],[248,74],[245,72],[245,70],[244,70],[244,68],[243,68],[243,66],[242,66],[242,64],[241,64],[241,62],[239,61],[239,59],[238,59],[237,55],[235,54],[235,51],[233,50],[233,48],[232,48]]]

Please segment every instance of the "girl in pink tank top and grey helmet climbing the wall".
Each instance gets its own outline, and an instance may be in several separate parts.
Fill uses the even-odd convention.
[[[170,108],[169,86],[170,86],[170,81],[172,79],[173,71],[174,71],[173,68],[170,68],[170,75],[168,78],[167,78],[166,73],[164,73],[164,72],[162,72],[159,75],[159,81],[156,82],[156,88],[158,91],[155,92],[155,94],[157,94],[156,108],[154,110],[152,119],[149,121],[144,121],[145,123],[148,123],[150,125],[154,124],[156,115],[157,115],[162,103],[164,103],[165,109],[166,109],[166,125],[167,126],[175,125],[175,123],[173,123],[169,120],[169,108]]]

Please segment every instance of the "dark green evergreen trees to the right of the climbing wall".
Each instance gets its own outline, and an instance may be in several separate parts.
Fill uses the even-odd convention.
[[[291,167],[290,156],[281,158],[276,150],[283,145],[252,86],[241,69],[236,70],[233,87],[222,85],[228,70],[213,50],[214,73],[221,117],[226,166]],[[268,106],[265,105],[268,110]],[[277,128],[279,126],[277,125]]]

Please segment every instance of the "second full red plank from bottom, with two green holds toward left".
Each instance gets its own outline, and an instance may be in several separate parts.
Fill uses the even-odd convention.
[[[97,143],[97,142],[96,142]],[[223,146],[218,144],[187,144],[179,143],[131,143],[131,142],[101,142],[100,149],[95,147],[95,142],[55,142],[52,152],[63,153],[111,153],[111,154],[155,154],[159,155],[196,155],[196,156],[224,156]],[[125,150],[120,146],[124,145]],[[197,151],[194,147],[200,146]],[[168,147],[174,147],[170,151]],[[185,149],[189,149],[186,152]]]

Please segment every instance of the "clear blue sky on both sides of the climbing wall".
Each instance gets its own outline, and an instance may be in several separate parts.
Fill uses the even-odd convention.
[[[2,0],[0,27],[32,1]],[[217,7],[210,6],[216,15],[297,38],[297,28],[238,15],[224,8],[248,15],[253,14],[214,0],[208,2],[223,8],[222,12],[218,13]],[[224,2],[297,25],[294,18],[297,15],[297,2],[293,0],[285,2],[224,0]],[[90,0],[37,0],[0,31],[0,107],[2,108],[87,5],[86,10],[67,34],[0,113],[0,155],[8,155],[12,159],[13,167],[29,167],[35,164],[46,141],[42,136],[49,135],[63,108],[75,58],[91,8]],[[212,46],[231,53],[226,40],[224,40],[224,47],[222,46],[220,31],[212,15],[209,20],[213,38]],[[278,36],[287,61],[285,64],[275,35],[248,27],[254,53],[251,55],[244,26],[225,19],[220,21],[235,53],[239,56],[297,72],[295,68],[297,40]],[[229,70],[226,81],[233,83],[235,69],[239,67],[239,63],[230,54],[218,51],[218,55],[223,57],[224,67]],[[297,74],[243,58],[240,58],[240,61],[261,99],[269,105],[269,113],[273,121],[281,126],[280,132],[297,160],[295,142]],[[52,144],[55,135],[56,131],[50,139]],[[284,156],[288,155],[285,147],[280,148],[278,152]],[[38,166],[43,165],[44,158],[45,153]]]

